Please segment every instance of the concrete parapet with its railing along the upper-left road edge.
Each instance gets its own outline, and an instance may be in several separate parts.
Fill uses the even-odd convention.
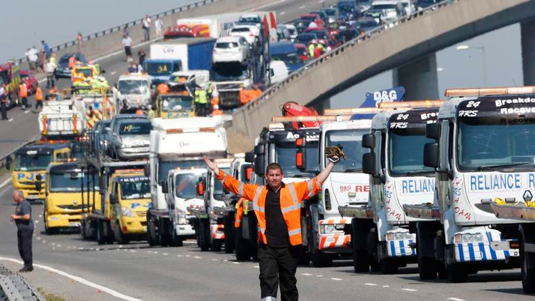
[[[247,10],[270,2],[272,2],[272,0],[203,0],[186,6],[166,10],[163,13],[151,15],[150,19],[153,22],[157,17],[162,19],[162,22],[164,23],[164,28],[162,29],[163,33],[166,26],[176,24],[176,19],[178,17],[200,17],[203,15],[227,13],[229,11]],[[143,19],[141,18],[84,36],[82,38],[81,51],[88,59],[94,59],[97,56],[111,54],[118,50],[122,50],[123,29],[125,26],[128,28],[129,36],[134,41],[135,47],[135,45],[138,45],[144,39],[144,29],[142,28],[142,24]],[[154,25],[150,26],[150,37],[156,37]],[[78,49],[77,40],[71,40],[51,48],[52,52],[56,53],[56,59],[59,59],[66,53],[78,52]],[[14,59],[13,61],[22,64],[23,68],[27,68],[25,57]]]

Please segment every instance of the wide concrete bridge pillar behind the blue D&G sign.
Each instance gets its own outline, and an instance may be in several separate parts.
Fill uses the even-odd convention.
[[[392,83],[405,87],[405,100],[438,99],[437,56],[429,54],[394,68]]]

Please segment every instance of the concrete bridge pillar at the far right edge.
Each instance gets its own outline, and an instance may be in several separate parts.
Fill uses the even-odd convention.
[[[520,43],[524,85],[531,86],[535,84],[535,19],[520,22]]]

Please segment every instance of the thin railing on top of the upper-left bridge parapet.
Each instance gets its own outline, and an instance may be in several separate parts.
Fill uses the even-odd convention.
[[[198,8],[200,6],[206,6],[208,4],[211,4],[211,3],[214,3],[214,2],[219,2],[219,1],[222,1],[222,0],[197,1],[195,3],[191,3],[191,4],[186,5],[186,6],[180,6],[178,8],[173,8],[173,9],[170,9],[170,10],[166,10],[163,13],[158,13],[156,15],[151,15],[150,16],[150,20],[155,20],[157,17],[164,17],[164,16],[167,16],[167,15],[173,15],[175,13],[180,13],[180,12],[183,12],[185,10],[190,10],[192,8]],[[121,24],[121,25],[118,25],[118,26],[111,27],[110,29],[104,29],[103,31],[97,31],[95,33],[91,33],[90,35],[84,36],[82,38],[82,44],[84,42],[87,42],[87,41],[92,40],[94,38],[99,38],[99,37],[102,37],[102,36],[106,36],[106,35],[108,35],[110,33],[116,33],[118,31],[123,31],[125,26],[131,27],[131,26],[139,25],[139,24],[141,24],[143,22],[143,20],[144,20],[144,18],[141,18],[141,19],[137,19],[137,20],[134,20],[134,21],[131,21],[131,22],[127,22],[125,24]],[[60,45],[56,45],[54,47],[51,47],[50,50],[52,52],[58,52],[61,49],[65,49],[67,47],[73,47],[73,46],[76,46],[77,44],[78,44],[78,40],[71,40],[69,42],[65,42],[65,43],[62,43]],[[23,58],[20,58],[20,59],[15,59],[14,61],[15,61],[15,63],[21,64],[21,63],[24,63],[24,61],[26,61],[26,58],[23,57]]]

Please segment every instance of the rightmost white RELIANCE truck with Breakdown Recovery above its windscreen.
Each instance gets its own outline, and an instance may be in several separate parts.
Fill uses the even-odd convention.
[[[419,272],[434,276],[440,267],[450,281],[460,282],[478,270],[519,265],[523,225],[497,218],[491,203],[522,201],[535,187],[530,147],[535,93],[533,87],[518,87],[450,89],[445,95],[449,100],[440,107],[438,123],[426,128],[435,142],[426,144],[424,164],[435,168],[437,184],[434,206],[421,211],[438,208],[440,222],[417,225],[422,252],[434,255],[419,264]]]

